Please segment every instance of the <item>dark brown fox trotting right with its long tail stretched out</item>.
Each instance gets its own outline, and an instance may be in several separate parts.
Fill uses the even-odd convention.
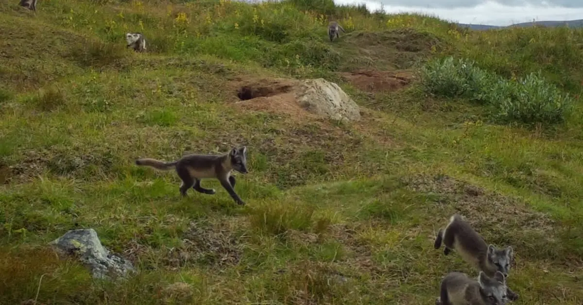
[[[247,147],[233,148],[224,155],[187,155],[174,162],[162,162],[154,159],[138,159],[138,166],[150,166],[157,170],[175,169],[178,177],[182,180],[180,194],[186,196],[189,188],[202,194],[214,195],[215,189],[201,187],[201,180],[205,178],[215,178],[229,192],[229,195],[239,205],[245,202],[239,198],[234,190],[236,180],[231,176],[233,170],[242,174],[247,174]]]

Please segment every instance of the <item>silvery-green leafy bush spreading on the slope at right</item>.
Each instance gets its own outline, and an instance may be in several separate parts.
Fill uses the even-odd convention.
[[[473,61],[447,57],[430,61],[420,71],[423,90],[442,97],[464,97],[490,104],[494,119],[525,124],[563,122],[573,98],[538,73],[507,80]]]

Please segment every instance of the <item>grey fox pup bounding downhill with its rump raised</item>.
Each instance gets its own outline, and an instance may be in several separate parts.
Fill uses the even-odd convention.
[[[445,229],[440,229],[434,243],[434,248],[444,244],[443,253],[448,255],[455,249],[472,267],[478,271],[483,271],[487,276],[494,276],[500,271],[504,276],[510,272],[510,262],[514,251],[512,246],[498,249],[493,245],[486,244],[486,241],[478,234],[462,216],[455,214],[449,218],[449,224]],[[511,300],[518,299],[518,294],[508,289]]]

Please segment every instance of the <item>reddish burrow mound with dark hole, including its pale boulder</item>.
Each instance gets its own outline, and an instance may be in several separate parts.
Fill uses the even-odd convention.
[[[293,120],[360,120],[357,104],[325,79],[238,79],[235,86],[236,104],[242,108],[287,114]]]

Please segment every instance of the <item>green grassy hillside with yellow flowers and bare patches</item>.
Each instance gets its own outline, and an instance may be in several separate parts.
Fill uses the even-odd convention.
[[[0,303],[433,304],[447,272],[476,275],[433,248],[454,212],[514,246],[516,304],[583,302],[582,30],[469,31],[331,1],[59,0],[36,15],[0,1]],[[327,16],[348,32],[333,43]],[[125,48],[127,31],[149,52]],[[571,108],[501,122],[498,101],[431,94],[417,72],[449,56],[513,88],[540,71]],[[237,97],[320,77],[360,122]],[[517,93],[523,113],[554,109],[537,88]],[[243,207],[216,181],[181,198],[174,173],[134,165],[235,145]],[[139,274],[96,281],[58,260],[47,243],[79,227]]]

